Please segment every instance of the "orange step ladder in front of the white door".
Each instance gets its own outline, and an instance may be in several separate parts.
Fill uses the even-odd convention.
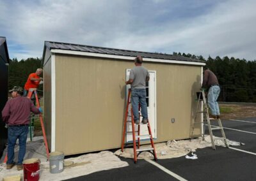
[[[137,163],[137,157],[139,156],[139,154],[141,154],[141,152],[150,152],[150,154],[152,154],[154,156],[155,161],[157,161],[157,155],[156,155],[156,148],[154,146],[154,141],[153,141],[153,137],[152,137],[152,132],[151,132],[151,128],[150,128],[150,124],[149,121],[147,122],[147,124],[135,124],[134,123],[134,115],[132,112],[132,106],[131,106],[131,115],[129,115],[129,105],[131,104],[131,89],[129,89],[129,93],[128,93],[128,98],[127,98],[127,106],[126,106],[126,112],[125,112],[125,119],[124,119],[124,131],[123,131],[123,139],[122,139],[122,147],[121,150],[122,152],[124,152],[124,145],[125,145],[125,133],[127,133],[126,131],[126,126],[127,126],[127,122],[131,122],[132,125],[132,142],[133,142],[133,152],[134,152],[134,163]],[[140,106],[139,106],[139,110],[140,110]],[[131,121],[127,120],[128,117],[131,117]],[[135,131],[135,126],[138,126],[138,131]],[[147,125],[148,127],[148,134],[146,135],[140,135],[140,126],[141,125]],[[137,133],[137,135],[136,135]],[[150,145],[151,147],[148,148],[140,148],[140,138],[150,138]],[[137,144],[136,144],[137,141]]]

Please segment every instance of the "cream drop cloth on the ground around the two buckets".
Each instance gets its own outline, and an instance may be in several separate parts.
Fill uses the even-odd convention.
[[[19,147],[16,146],[16,158],[18,150]],[[50,173],[49,161],[46,161],[46,152],[44,147],[44,140],[42,140],[42,137],[34,138],[32,142],[27,143],[27,152],[24,159],[29,159],[32,157],[39,158],[41,161],[40,180],[65,180],[68,178],[88,175],[96,171],[110,170],[113,168],[121,168],[129,165],[127,162],[121,161],[112,152],[102,151],[95,154],[85,154],[83,156],[65,159],[65,161],[72,161],[74,164],[65,168],[61,173]],[[1,160],[3,160],[3,158]],[[11,170],[6,170],[6,164],[1,163],[0,180],[2,180],[3,177],[12,175],[21,175],[23,178],[23,171],[17,171],[16,166],[14,166]]]

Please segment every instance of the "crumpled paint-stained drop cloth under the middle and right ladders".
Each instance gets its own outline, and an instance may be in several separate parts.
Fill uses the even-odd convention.
[[[225,144],[216,136],[214,137],[214,143],[216,146],[223,146]],[[238,146],[241,143],[237,141],[228,140],[228,145]],[[154,144],[157,152],[157,159],[170,159],[174,157],[186,156],[189,152],[195,152],[197,148],[205,148],[211,147],[211,137],[209,135],[205,135],[205,140],[202,140],[202,137],[192,139],[192,140],[179,140],[179,141],[167,141],[167,143],[156,143]],[[150,145],[141,145],[140,148],[150,147]],[[115,152],[117,156],[125,157],[125,158],[133,158],[133,148],[125,148],[124,152],[117,150]],[[142,152],[138,159],[154,159],[154,156],[149,152]]]

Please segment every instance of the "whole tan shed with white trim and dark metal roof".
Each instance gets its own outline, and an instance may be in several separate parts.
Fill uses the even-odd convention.
[[[121,147],[124,79],[136,55],[143,57],[143,66],[150,71],[147,103],[155,142],[189,138],[205,62],[45,41],[44,121],[51,151],[71,155]],[[126,141],[131,141],[131,135]]]

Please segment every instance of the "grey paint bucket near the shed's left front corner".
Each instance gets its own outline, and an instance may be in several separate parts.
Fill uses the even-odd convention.
[[[50,154],[50,172],[61,173],[64,169],[64,154],[63,152],[51,152]]]

